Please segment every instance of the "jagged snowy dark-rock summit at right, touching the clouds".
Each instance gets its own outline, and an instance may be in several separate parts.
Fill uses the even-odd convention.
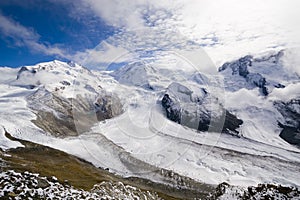
[[[274,88],[299,80],[296,73],[284,66],[283,56],[284,51],[256,58],[247,55],[223,64],[219,72],[224,76],[225,88],[229,91],[259,88],[260,93],[267,96]]]

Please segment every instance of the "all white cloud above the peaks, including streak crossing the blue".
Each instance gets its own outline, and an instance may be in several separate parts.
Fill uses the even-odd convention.
[[[22,26],[1,13],[0,32],[17,46],[98,69],[105,69],[110,63],[134,60],[155,62],[174,51],[203,51],[220,66],[247,54],[299,47],[300,44],[297,0],[51,2],[68,8],[68,17],[92,29],[79,31],[82,37],[87,40],[103,37],[93,38],[92,48],[51,44],[41,41],[33,28]],[[106,29],[106,25],[112,29]],[[99,34],[106,31],[105,36]]]

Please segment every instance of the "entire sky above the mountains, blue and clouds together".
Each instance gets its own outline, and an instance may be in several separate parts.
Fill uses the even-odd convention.
[[[297,0],[1,0],[0,66],[116,68],[203,49],[216,65],[299,46]],[[154,59],[153,59],[154,58]]]

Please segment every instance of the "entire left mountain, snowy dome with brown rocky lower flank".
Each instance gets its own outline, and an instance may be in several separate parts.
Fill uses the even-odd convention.
[[[22,91],[12,96],[25,101],[25,107],[20,106],[34,113],[28,121],[52,135],[65,137],[78,135],[98,120],[122,112],[119,98],[102,88],[100,78],[76,63],[54,60],[21,67],[6,84],[12,87],[12,93],[14,88]],[[112,106],[109,98],[116,104]]]

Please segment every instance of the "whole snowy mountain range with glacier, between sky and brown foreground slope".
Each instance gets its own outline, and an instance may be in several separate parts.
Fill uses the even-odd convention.
[[[300,78],[284,56],[245,56],[215,76],[143,62],[0,68],[0,148],[22,146],[8,132],[176,187],[299,187]]]

